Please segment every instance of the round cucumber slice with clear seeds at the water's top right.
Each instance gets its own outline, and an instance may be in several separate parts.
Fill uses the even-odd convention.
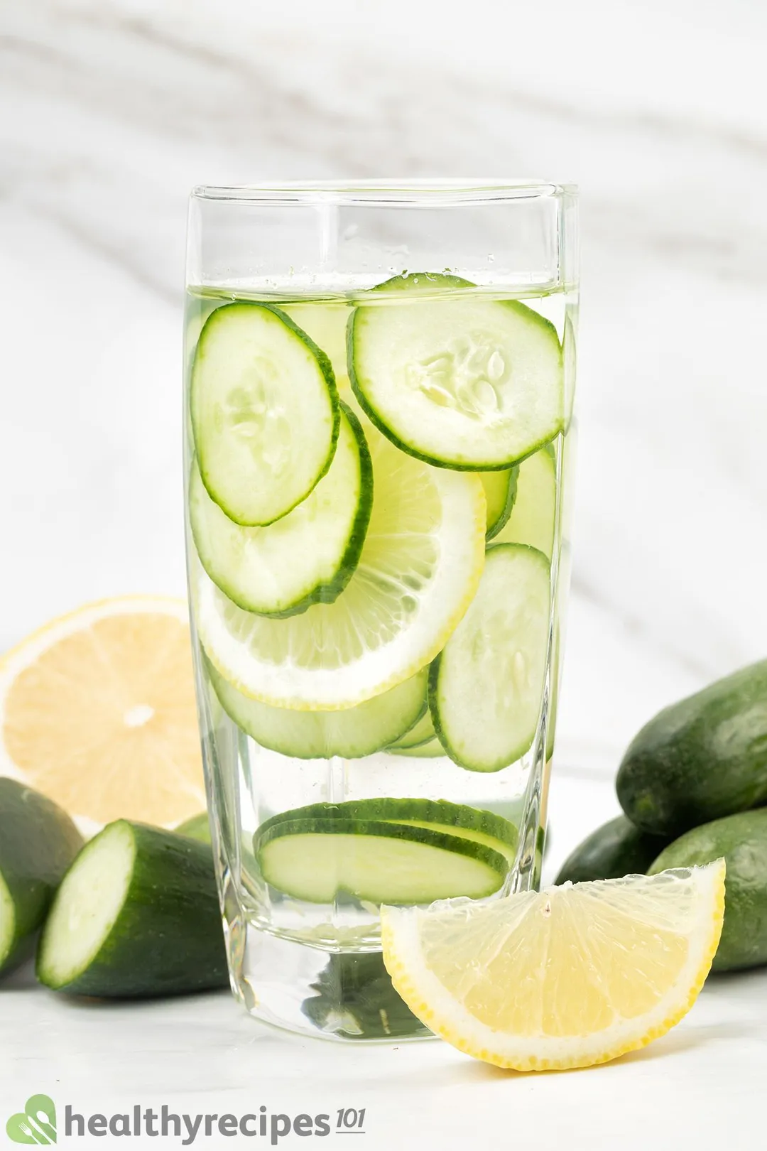
[[[401,304],[371,300],[348,321],[352,388],[384,435],[439,467],[494,471],[561,430],[562,350],[549,320],[453,277],[429,274],[428,298],[423,273],[396,281]]]

